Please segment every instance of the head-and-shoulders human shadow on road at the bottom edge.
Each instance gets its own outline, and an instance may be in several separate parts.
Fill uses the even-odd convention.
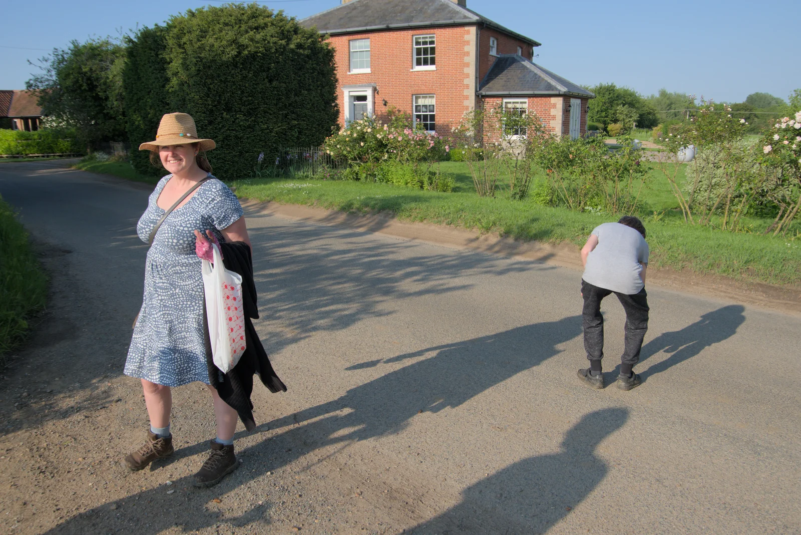
[[[626,408],[586,414],[566,432],[559,453],[529,457],[493,473],[465,489],[458,505],[409,533],[545,533],[606,477],[609,469],[595,450],[628,416]]]

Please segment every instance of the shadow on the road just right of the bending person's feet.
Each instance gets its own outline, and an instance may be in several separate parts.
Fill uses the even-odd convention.
[[[658,352],[672,353],[661,362],[651,364],[646,370],[639,372],[643,379],[664,372],[676,364],[697,356],[704,349],[734,336],[737,328],[746,320],[743,316],[745,307],[741,304],[730,304],[712,312],[706,312],[694,324],[687,325],[680,331],[663,332],[642,347],[641,362],[653,357]]]

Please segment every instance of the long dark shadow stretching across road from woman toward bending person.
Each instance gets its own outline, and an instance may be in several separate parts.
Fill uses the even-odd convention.
[[[307,430],[328,444],[401,432],[420,412],[458,407],[557,355],[557,345],[581,333],[581,320],[581,316],[570,316],[392,357],[383,364],[436,352],[360,384],[336,400],[274,420],[269,426],[280,428],[322,417]],[[343,409],[350,410],[342,414]],[[346,429],[352,431],[343,432]]]

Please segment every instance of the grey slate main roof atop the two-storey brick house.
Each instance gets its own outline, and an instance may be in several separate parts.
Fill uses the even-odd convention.
[[[450,0],[352,0],[299,22],[301,26],[307,28],[317,26],[321,34],[332,35],[400,28],[485,24],[530,45],[541,44]]]

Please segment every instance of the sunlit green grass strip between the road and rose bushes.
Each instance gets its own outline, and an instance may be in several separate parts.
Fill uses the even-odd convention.
[[[497,232],[515,239],[570,242],[577,246],[598,224],[615,219],[612,215],[544,207],[529,199],[509,199],[505,183],[501,184],[495,198],[478,197],[465,163],[443,162],[439,165],[441,171],[456,176],[453,193],[302,177],[235,180],[231,186],[241,198],[356,213],[385,212],[405,221],[426,221]],[[81,168],[149,183],[157,181],[139,175],[127,163],[94,162]],[[683,180],[681,171],[678,179]],[[682,223],[681,213],[675,209],[678,203],[666,180],[656,169],[650,171],[644,199],[649,215],[643,222],[648,231],[651,265],[677,270],[689,268],[699,273],[767,284],[801,285],[801,226],[796,225],[793,229],[795,237],[774,238],[759,234],[770,223],[766,219],[744,221],[749,230],[755,232],[753,234],[686,225]]]

